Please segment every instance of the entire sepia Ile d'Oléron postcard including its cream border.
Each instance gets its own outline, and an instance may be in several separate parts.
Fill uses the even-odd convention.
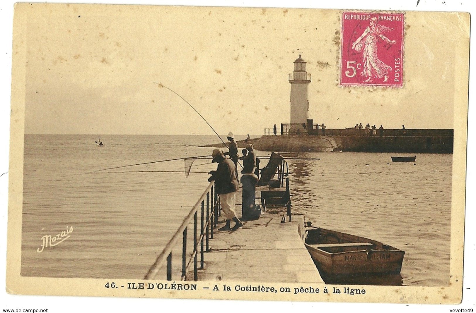
[[[460,303],[469,25],[17,3],[8,293]]]

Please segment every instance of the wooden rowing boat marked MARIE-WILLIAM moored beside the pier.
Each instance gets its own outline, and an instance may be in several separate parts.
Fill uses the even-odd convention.
[[[400,274],[405,251],[356,235],[307,225],[305,245],[321,274]]]

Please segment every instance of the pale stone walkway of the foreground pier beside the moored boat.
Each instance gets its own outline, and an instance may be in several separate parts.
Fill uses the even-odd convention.
[[[241,216],[241,192],[236,211]],[[322,283],[299,235],[303,216],[292,215],[292,222],[281,223],[284,214],[286,207],[269,208],[258,220],[243,221],[236,231],[217,231],[198,280]],[[218,228],[224,225],[224,217],[219,221]]]

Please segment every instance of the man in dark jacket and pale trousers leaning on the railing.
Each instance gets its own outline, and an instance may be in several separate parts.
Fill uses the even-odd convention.
[[[208,181],[215,181],[215,191],[220,195],[220,204],[223,214],[226,217],[225,226],[218,230],[237,230],[243,226],[235,211],[236,193],[238,191],[238,179],[235,176],[236,167],[233,162],[225,157],[220,149],[213,150],[212,163],[218,163],[216,171],[210,171]],[[236,224],[230,228],[230,222],[233,220]]]

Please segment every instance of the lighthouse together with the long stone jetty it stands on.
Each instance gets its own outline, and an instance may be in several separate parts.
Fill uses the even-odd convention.
[[[308,100],[311,75],[306,71],[306,63],[299,55],[288,77],[290,123],[281,123],[276,127],[276,134],[274,127],[265,128],[264,136],[238,141],[238,147],[251,143],[260,151],[453,153],[453,129],[322,129],[313,124],[309,119]]]

